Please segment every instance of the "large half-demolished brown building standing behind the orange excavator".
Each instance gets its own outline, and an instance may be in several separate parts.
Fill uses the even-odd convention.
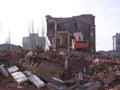
[[[70,49],[74,33],[80,32],[89,43],[89,50],[95,52],[95,16],[84,14],[70,18],[46,16],[47,36],[55,50]]]

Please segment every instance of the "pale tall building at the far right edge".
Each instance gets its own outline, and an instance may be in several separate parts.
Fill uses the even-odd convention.
[[[120,51],[120,33],[113,36],[113,50]]]

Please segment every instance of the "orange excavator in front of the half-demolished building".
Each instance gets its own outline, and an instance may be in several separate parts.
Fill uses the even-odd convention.
[[[88,50],[88,42],[83,40],[83,35],[81,32],[74,33],[75,39],[72,40],[72,49],[75,50]]]

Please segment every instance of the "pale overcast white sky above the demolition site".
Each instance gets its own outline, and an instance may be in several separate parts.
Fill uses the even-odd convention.
[[[112,50],[112,36],[120,33],[120,0],[0,0],[0,44],[22,45],[30,22],[41,30],[45,15],[72,17],[93,14],[96,24],[96,49]]]

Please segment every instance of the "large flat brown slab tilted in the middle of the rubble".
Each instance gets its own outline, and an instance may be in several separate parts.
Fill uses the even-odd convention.
[[[37,76],[40,76],[43,80],[51,82],[52,81],[51,77],[53,76],[60,77],[60,75],[63,75],[64,68],[59,64],[42,60],[39,66],[31,71],[35,73]]]

